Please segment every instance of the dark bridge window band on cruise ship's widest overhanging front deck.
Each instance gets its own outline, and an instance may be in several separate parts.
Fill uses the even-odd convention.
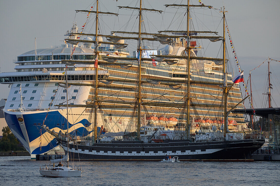
[[[98,75],[98,78],[108,78],[108,75]],[[24,82],[24,81],[44,81],[44,80],[61,81],[61,80],[65,80],[65,79],[66,79],[65,75],[10,76],[10,77],[0,77],[0,83]],[[94,75],[67,75],[67,80],[94,80]],[[20,86],[20,84],[18,85],[18,87],[19,86]]]

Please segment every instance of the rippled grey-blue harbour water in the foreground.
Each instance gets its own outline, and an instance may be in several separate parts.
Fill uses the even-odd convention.
[[[81,161],[82,177],[49,178],[30,156],[0,157],[0,185],[279,185],[280,162]]]

